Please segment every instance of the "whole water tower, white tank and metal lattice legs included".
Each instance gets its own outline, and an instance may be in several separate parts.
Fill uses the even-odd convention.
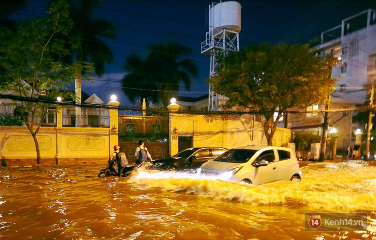
[[[209,31],[201,43],[201,53],[210,55],[210,77],[217,76],[217,57],[239,51],[241,23],[240,3],[229,1],[209,5]],[[209,111],[219,110],[224,96],[214,93],[209,85]]]

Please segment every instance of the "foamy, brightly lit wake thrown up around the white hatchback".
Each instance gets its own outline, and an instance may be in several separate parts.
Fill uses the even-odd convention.
[[[304,204],[324,211],[375,209],[376,167],[346,163],[310,165],[302,167],[301,182],[260,186],[220,181],[214,176],[145,170],[139,170],[130,181],[149,188],[249,204]]]

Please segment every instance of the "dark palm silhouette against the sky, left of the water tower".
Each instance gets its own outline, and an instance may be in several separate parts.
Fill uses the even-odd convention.
[[[164,43],[149,46],[146,58],[129,56],[124,66],[127,74],[121,80],[124,94],[131,102],[140,100],[142,103],[145,98],[167,106],[171,96],[169,91],[179,91],[180,83],[190,90],[191,79],[198,75],[194,62],[182,57],[191,52],[188,47]]]

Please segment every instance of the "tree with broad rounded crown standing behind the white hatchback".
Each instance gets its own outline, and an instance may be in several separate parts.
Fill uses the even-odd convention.
[[[228,98],[224,108],[258,111],[268,145],[285,112],[324,102],[337,80],[307,45],[260,44],[218,59],[213,90]]]

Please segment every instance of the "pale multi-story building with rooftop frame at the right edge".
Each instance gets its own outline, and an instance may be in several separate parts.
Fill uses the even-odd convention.
[[[341,65],[333,67],[332,76],[340,77],[335,84],[330,108],[350,108],[364,103],[365,85],[376,84],[376,11],[368,9],[342,20],[337,27],[321,33],[321,44],[314,48],[317,55],[333,55]],[[324,106],[313,105],[307,110]],[[330,129],[339,134],[338,148],[351,143],[352,112],[329,114]],[[321,113],[291,114],[288,127],[291,131],[312,131],[321,135]]]

